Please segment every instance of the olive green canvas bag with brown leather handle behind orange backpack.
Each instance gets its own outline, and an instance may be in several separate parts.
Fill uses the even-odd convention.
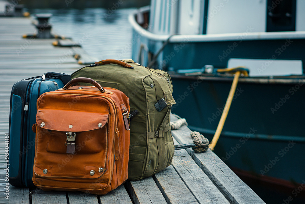
[[[129,180],[152,176],[171,164],[174,143],[170,110],[175,101],[167,72],[133,60],[103,60],[77,70],[72,79],[77,77],[124,92],[129,97],[130,112],[139,111],[130,123]]]

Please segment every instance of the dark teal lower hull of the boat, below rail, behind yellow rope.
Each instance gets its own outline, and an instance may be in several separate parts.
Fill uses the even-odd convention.
[[[172,75],[172,81],[177,102],[172,112],[211,141],[231,80]],[[268,176],[290,186],[301,184],[305,178],[303,84],[302,78],[288,84],[240,82],[214,150],[217,156],[257,179]]]

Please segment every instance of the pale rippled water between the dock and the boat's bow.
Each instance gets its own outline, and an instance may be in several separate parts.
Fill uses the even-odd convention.
[[[53,33],[72,37],[84,50],[98,59],[131,58],[131,26],[128,15],[134,8],[117,9],[32,9],[35,13],[52,13]],[[127,49],[126,49],[127,48]]]

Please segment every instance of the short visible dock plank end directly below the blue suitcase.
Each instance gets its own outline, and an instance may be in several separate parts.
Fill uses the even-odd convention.
[[[30,203],[30,190],[11,186],[9,189],[9,204]]]

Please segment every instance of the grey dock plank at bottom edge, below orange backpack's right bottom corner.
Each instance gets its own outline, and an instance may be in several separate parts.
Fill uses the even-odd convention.
[[[124,185],[120,185],[106,195],[100,195],[99,199],[100,203],[132,203]]]

